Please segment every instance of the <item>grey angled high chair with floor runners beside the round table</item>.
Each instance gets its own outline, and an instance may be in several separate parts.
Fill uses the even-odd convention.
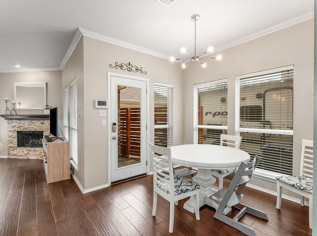
[[[210,196],[212,200],[220,203],[213,217],[249,236],[256,236],[254,229],[239,222],[245,213],[268,220],[265,212],[241,203],[243,198],[243,194],[241,192],[245,188],[246,184],[252,179],[253,172],[260,159],[260,156],[255,156],[251,162],[241,162],[229,187],[219,189]],[[237,204],[239,204],[239,208],[237,209],[240,211],[233,218],[224,214],[223,210],[225,207],[234,207]]]

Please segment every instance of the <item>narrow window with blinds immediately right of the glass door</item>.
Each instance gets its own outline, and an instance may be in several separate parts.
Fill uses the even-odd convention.
[[[158,146],[173,145],[173,87],[154,85],[154,143]]]

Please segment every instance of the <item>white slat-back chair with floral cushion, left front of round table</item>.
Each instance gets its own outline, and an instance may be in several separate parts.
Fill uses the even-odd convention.
[[[184,176],[174,175],[171,161],[171,149],[149,143],[153,165],[153,209],[156,215],[158,194],[169,201],[169,233],[173,232],[174,207],[178,200],[194,196],[196,220],[199,216],[199,189],[200,186]],[[172,180],[172,181],[171,181]]]

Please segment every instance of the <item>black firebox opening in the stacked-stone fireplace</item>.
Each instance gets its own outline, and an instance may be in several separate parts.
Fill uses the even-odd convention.
[[[17,147],[42,147],[43,131],[17,131]]]

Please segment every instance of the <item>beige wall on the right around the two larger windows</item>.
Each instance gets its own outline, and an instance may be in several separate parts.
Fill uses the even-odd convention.
[[[313,139],[314,20],[271,33],[217,52],[221,61],[208,61],[206,69],[190,63],[184,76],[185,142],[193,142],[193,85],[228,78],[228,134],[234,135],[235,76],[294,65],[294,174],[299,174],[302,139]],[[276,184],[259,179],[260,188],[276,191]],[[283,192],[284,193],[284,192]]]

